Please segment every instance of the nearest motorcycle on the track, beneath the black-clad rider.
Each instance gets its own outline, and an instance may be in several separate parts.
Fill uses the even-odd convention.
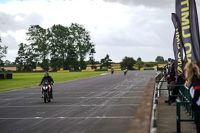
[[[48,81],[44,81],[42,84],[42,92],[44,94],[44,103],[51,102],[51,85]]]

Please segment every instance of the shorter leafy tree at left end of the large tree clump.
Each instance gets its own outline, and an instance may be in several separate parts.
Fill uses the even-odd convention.
[[[18,70],[32,71],[36,68],[37,59],[30,49],[30,45],[21,43],[19,45],[18,57],[15,60]]]

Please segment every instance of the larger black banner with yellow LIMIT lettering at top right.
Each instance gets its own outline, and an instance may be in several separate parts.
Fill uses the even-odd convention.
[[[187,62],[200,67],[199,24],[195,0],[176,0],[176,14],[181,24],[181,38]]]

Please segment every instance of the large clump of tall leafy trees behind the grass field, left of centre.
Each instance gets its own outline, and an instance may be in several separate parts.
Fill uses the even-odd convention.
[[[85,57],[94,51],[89,32],[79,24],[69,27],[53,25],[43,29],[32,25],[26,33],[29,44],[20,43],[15,62],[18,70],[32,70],[36,65],[48,71],[49,67],[85,69]]]

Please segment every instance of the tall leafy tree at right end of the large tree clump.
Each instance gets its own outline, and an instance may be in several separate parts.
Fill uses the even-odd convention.
[[[77,49],[77,55],[80,62],[81,69],[86,68],[85,57],[86,54],[90,52],[92,48],[94,48],[94,44],[90,42],[90,35],[86,29],[79,24],[72,23],[69,27],[71,40]]]

